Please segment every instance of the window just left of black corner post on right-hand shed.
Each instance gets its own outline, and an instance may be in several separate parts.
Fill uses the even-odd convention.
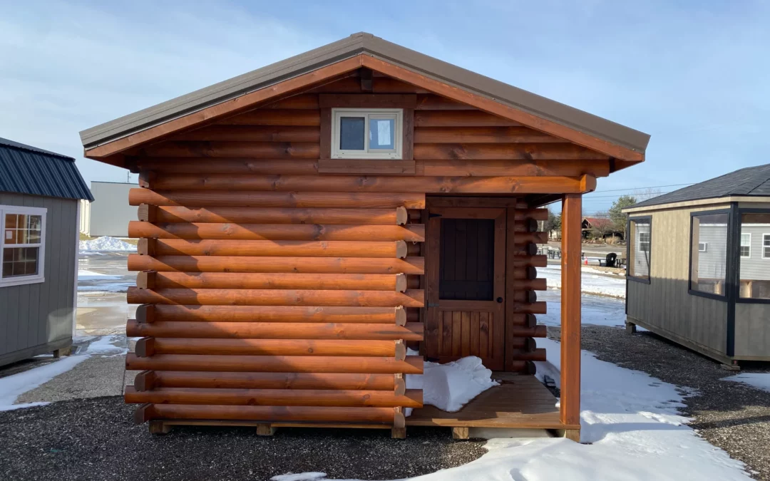
[[[728,215],[695,215],[692,218],[690,289],[725,295]],[[706,249],[700,246],[705,244]]]

